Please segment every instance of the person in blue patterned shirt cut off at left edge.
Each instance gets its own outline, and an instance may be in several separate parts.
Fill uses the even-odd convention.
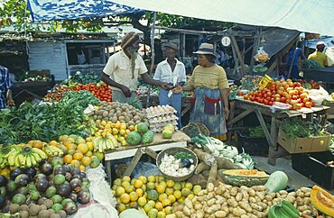
[[[13,85],[8,68],[0,65],[0,109],[5,108],[6,105],[14,105],[11,90]]]

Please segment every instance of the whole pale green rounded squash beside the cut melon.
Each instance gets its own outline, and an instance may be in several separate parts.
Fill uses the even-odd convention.
[[[268,188],[268,193],[279,192],[288,186],[289,177],[283,171],[272,173],[268,181],[264,184]]]

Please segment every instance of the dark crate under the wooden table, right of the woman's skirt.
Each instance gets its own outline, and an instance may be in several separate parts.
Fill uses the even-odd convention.
[[[247,131],[237,132],[237,149],[244,149],[249,155],[268,156],[269,144],[265,138],[249,137]]]

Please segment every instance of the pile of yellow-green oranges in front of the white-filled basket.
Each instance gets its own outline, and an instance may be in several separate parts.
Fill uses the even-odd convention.
[[[181,204],[187,197],[192,199],[200,190],[200,186],[191,183],[156,176],[116,178],[112,186],[119,213],[130,207],[141,210],[149,218],[172,214],[173,204]]]

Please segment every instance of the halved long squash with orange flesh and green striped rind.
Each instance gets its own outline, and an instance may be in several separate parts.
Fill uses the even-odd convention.
[[[229,169],[223,172],[222,178],[232,186],[263,186],[269,175],[257,169]]]

